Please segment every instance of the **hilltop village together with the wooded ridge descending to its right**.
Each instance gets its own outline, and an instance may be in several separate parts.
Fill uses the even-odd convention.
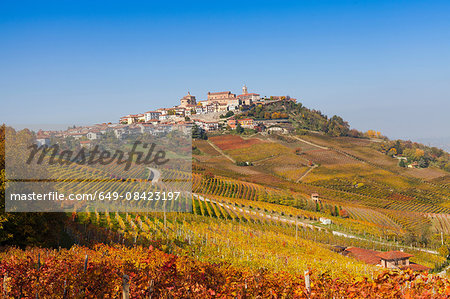
[[[48,145],[52,137],[72,137],[79,140],[80,146],[90,147],[94,141],[106,137],[123,140],[138,134],[161,135],[173,130],[184,133],[192,131],[194,138],[207,138],[206,133],[215,135],[215,132],[231,131],[262,135],[310,132],[330,137],[364,138],[373,141],[372,146],[377,151],[398,161],[399,167],[436,166],[450,170],[450,155],[441,149],[411,141],[390,141],[373,130],[363,133],[351,129],[342,117],[334,115],[329,118],[289,96],[262,97],[258,93],[248,92],[246,85],[240,95],[231,91],[208,92],[206,100],[197,100],[188,92],[177,106],[128,114],[116,123],[73,126],[65,131],[41,130],[36,141],[40,145]]]

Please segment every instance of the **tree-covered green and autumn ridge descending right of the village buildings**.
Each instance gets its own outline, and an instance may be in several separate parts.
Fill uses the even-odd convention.
[[[394,161],[402,167],[408,167],[409,165],[418,168],[434,166],[450,172],[450,154],[442,149],[409,140],[391,141],[382,136],[380,132],[373,130],[360,132],[356,129],[350,129],[348,122],[340,116],[334,115],[329,118],[320,111],[309,109],[301,103],[295,103],[289,99],[256,104],[237,114],[235,118],[252,118],[262,123],[271,120],[284,120],[276,126],[284,127],[294,134],[316,132],[330,137],[353,137],[362,139],[359,142],[360,145],[367,140],[376,141],[366,144],[371,144],[374,149],[383,154],[397,158]],[[353,139],[345,140],[349,141],[350,145],[355,142],[358,143]],[[328,139],[328,141],[334,143],[331,139]]]

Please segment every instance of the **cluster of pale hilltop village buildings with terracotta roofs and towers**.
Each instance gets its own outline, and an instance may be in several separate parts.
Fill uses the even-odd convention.
[[[91,141],[102,139],[107,134],[114,134],[118,139],[139,133],[159,134],[171,130],[187,131],[194,125],[202,130],[216,131],[220,129],[254,129],[258,132],[270,130],[285,130],[279,124],[287,124],[287,116],[280,115],[276,119],[261,119],[237,117],[255,107],[273,104],[281,101],[296,103],[289,96],[261,97],[258,93],[248,92],[247,86],[242,87],[242,94],[231,91],[208,92],[206,100],[197,101],[189,92],[180,99],[180,104],[172,108],[159,108],[138,114],[128,114],[119,119],[118,123],[102,123],[92,126],[73,126],[65,131],[39,131],[38,144],[50,144],[52,137],[73,137],[80,140],[82,146],[89,146]],[[269,130],[269,131],[270,131]]]

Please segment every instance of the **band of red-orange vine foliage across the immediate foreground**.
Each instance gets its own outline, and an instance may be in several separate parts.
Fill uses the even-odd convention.
[[[9,249],[0,253],[4,298],[442,298],[450,282],[412,272],[373,279],[333,279],[314,269],[291,274],[206,263],[153,247],[96,245],[70,250]]]

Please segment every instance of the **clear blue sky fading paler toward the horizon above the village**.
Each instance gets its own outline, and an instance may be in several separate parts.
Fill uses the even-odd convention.
[[[450,1],[2,0],[0,38],[6,123],[117,121],[245,83],[450,139]]]

